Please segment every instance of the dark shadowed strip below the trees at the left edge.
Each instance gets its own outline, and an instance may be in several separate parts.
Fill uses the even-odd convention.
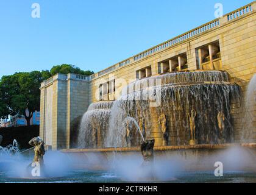
[[[17,140],[19,149],[28,149],[29,140],[39,136],[39,126],[21,126],[21,127],[4,127],[0,129],[2,135],[2,147],[12,144],[13,140]]]

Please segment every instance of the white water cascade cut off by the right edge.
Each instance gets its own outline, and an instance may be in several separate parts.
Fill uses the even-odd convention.
[[[249,143],[253,140],[254,133],[256,132],[254,127],[254,122],[256,121],[256,116],[254,113],[256,106],[256,74],[254,74],[249,82],[244,102],[245,107],[242,120],[243,130],[241,140],[243,143]]]

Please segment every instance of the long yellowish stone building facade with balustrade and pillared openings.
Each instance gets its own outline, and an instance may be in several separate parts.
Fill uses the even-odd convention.
[[[50,85],[53,88],[52,107],[49,107],[52,109],[53,149],[69,147],[72,121],[81,116],[91,102],[117,99],[124,85],[142,77],[166,71],[221,69],[229,73],[230,81],[240,85],[245,94],[249,81],[256,73],[255,10],[256,2],[252,2],[90,77],[78,79],[81,76],[57,74],[46,80],[41,85],[40,136],[44,137],[45,132],[45,93]],[[204,59],[204,56],[207,57]],[[101,97],[102,84],[113,79],[115,90]],[[255,104],[253,108],[256,141]],[[240,139],[243,117],[240,110],[240,105],[232,105],[236,141]],[[160,134],[154,132],[152,137],[160,138]]]

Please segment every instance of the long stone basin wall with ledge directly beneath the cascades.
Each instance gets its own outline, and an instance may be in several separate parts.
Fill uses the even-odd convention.
[[[108,170],[116,158],[134,158],[142,163],[140,147],[63,149],[78,169]],[[256,172],[256,143],[198,144],[194,146],[155,146],[155,161],[176,161],[182,171],[214,171],[221,161],[226,171]]]

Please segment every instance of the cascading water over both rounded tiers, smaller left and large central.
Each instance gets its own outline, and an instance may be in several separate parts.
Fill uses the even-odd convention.
[[[162,145],[233,141],[232,102],[240,88],[224,71],[183,71],[129,83],[115,102],[96,102],[84,114],[79,147],[140,146],[142,138]],[[194,115],[193,117],[191,115]],[[165,122],[163,122],[165,121]]]

